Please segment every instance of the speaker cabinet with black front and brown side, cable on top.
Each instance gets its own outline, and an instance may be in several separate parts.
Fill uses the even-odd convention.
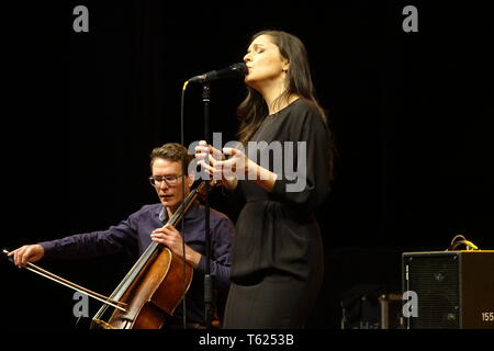
[[[494,329],[494,250],[404,252],[402,283],[405,328]]]

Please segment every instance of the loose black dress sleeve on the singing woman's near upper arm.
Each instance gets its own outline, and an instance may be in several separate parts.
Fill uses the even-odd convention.
[[[288,133],[294,143],[285,143],[283,170],[271,196],[312,211],[329,193],[329,131],[323,118],[307,109],[291,118]]]

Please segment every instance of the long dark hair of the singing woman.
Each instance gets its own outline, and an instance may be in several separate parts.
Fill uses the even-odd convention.
[[[250,38],[252,43],[260,35],[269,35],[280,50],[282,58],[288,59],[290,67],[287,71],[287,89],[277,98],[276,102],[282,99],[289,99],[296,94],[313,103],[319,111],[321,117],[327,123],[326,111],[319,105],[316,99],[315,88],[312,82],[311,68],[308,65],[308,55],[305,45],[293,34],[283,31],[261,31],[254,34]],[[268,105],[262,95],[251,87],[247,87],[247,97],[237,107],[237,117],[240,121],[238,129],[238,140],[245,146],[262,124],[265,117],[269,114]],[[330,154],[329,177],[333,178],[334,145],[328,152]]]

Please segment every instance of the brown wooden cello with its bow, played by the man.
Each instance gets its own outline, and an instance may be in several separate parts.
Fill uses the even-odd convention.
[[[215,185],[214,182],[210,184]],[[191,190],[167,224],[177,226],[198,196],[203,194],[204,188],[205,181],[201,181]],[[3,253],[8,251],[3,250]],[[103,302],[104,305],[92,318],[91,329],[161,328],[183,299],[193,276],[193,268],[183,258],[156,241],[149,244],[109,297],[35,264],[27,263],[26,269]]]

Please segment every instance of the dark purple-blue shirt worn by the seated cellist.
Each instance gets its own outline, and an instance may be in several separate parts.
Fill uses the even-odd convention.
[[[226,215],[213,208],[210,214],[211,275],[215,290],[226,295],[229,286],[229,251],[235,226]],[[182,236],[186,244],[202,254],[186,297],[188,322],[204,324],[203,273],[206,265],[204,218],[204,206],[195,202],[189,208],[183,222]],[[141,256],[151,242],[151,231],[162,227],[167,220],[167,212],[160,203],[145,205],[108,230],[76,234],[57,240],[43,241],[40,245],[45,250],[46,259],[91,259],[117,252],[135,252],[136,249]],[[177,230],[181,231],[181,224],[178,224]],[[180,304],[173,319],[181,320],[181,318]]]

